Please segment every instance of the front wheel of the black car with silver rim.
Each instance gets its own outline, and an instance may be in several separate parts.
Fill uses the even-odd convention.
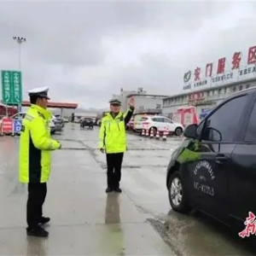
[[[168,195],[172,210],[175,212],[188,213],[191,207],[188,197],[183,189],[183,177],[180,172],[173,172],[168,181]]]

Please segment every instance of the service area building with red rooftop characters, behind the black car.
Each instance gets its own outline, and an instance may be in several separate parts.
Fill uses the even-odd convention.
[[[217,67],[207,63],[183,75],[183,93],[163,99],[163,114],[172,117],[178,108],[195,106],[197,114],[214,108],[231,94],[256,86],[256,46],[242,55],[235,52],[231,61],[221,58]]]

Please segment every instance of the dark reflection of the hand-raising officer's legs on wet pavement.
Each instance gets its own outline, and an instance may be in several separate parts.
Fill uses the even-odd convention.
[[[120,223],[119,194],[109,193],[106,201],[105,224]]]

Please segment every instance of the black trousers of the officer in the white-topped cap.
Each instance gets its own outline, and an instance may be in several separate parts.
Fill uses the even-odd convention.
[[[46,183],[28,183],[28,198],[26,203],[26,222],[29,228],[38,227],[43,216],[43,205],[47,194]]]

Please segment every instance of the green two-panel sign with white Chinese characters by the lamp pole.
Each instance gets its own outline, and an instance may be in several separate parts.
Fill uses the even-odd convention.
[[[21,72],[1,70],[3,104],[20,105],[22,102]]]

